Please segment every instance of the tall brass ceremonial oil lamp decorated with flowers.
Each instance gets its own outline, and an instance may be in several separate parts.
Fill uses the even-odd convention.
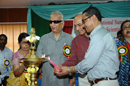
[[[30,36],[25,39],[30,42],[30,52],[27,58],[21,58],[24,61],[24,64],[27,65],[27,72],[25,77],[28,81],[28,86],[38,86],[38,79],[36,77],[37,71],[39,70],[39,65],[42,63],[45,57],[38,58],[36,57],[36,42],[40,37],[35,35],[35,29],[32,28],[30,31]]]

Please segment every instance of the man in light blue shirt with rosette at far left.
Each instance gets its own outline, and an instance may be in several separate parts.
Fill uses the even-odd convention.
[[[7,36],[0,35],[0,86],[6,86],[6,80],[9,78],[11,72],[11,59],[13,52],[7,48]]]

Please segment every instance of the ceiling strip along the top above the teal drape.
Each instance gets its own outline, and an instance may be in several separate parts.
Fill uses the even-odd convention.
[[[56,4],[66,3],[103,3],[108,1],[130,0],[0,0],[0,8],[27,8],[29,5],[47,5],[51,2]]]

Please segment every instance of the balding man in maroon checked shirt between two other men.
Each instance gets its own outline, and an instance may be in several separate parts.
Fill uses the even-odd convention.
[[[77,14],[75,16],[74,26],[79,35],[76,36],[72,41],[70,59],[66,60],[65,63],[62,64],[64,66],[77,65],[84,59],[84,55],[89,46],[89,35],[87,34],[86,30],[84,29],[84,25],[82,24],[82,14]],[[86,74],[79,74],[78,81],[79,86],[90,86]],[[73,83],[70,84],[73,86]]]

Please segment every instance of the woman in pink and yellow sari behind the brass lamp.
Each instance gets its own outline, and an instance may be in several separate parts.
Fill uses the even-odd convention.
[[[13,71],[10,73],[10,77],[7,79],[7,86],[26,86],[27,81],[25,79],[26,66],[23,64],[23,60],[19,58],[27,58],[29,54],[30,43],[25,39],[29,36],[27,33],[21,33],[18,37],[19,50],[13,54],[12,66]]]

